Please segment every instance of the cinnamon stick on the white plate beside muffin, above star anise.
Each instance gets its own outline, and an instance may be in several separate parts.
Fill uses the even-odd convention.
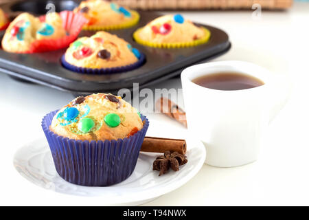
[[[182,139],[171,139],[163,137],[145,137],[141,145],[141,151],[164,153],[165,151],[178,152],[185,155],[187,143]]]

